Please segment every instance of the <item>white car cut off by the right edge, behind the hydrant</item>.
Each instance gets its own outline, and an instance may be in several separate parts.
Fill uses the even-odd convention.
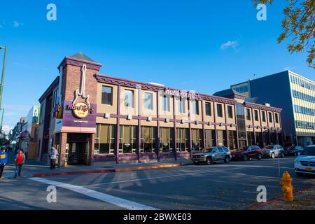
[[[294,171],[298,176],[302,174],[315,175],[315,146],[307,146],[295,158]]]

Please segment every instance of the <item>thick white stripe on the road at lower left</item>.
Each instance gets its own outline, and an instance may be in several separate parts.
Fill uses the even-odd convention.
[[[76,193],[86,195],[88,197],[92,197],[92,198],[95,198],[97,200],[101,200],[103,202],[115,204],[116,206],[122,207],[124,209],[129,209],[129,210],[160,210],[160,209],[157,209],[154,207],[148,207],[144,204],[139,204],[137,202],[131,202],[129,200],[125,200],[125,199],[120,198],[120,197],[115,197],[112,195],[107,195],[104,193],[97,192],[95,190],[90,190],[88,188],[83,188],[82,186],[75,186],[75,185],[72,185],[69,183],[62,183],[62,182],[58,182],[58,181],[50,181],[48,179],[43,179],[43,178],[38,178],[38,177],[33,177],[33,178],[29,178],[29,179],[31,179],[32,181],[45,183],[45,184],[56,186],[59,188],[65,188],[68,190],[72,190]]]

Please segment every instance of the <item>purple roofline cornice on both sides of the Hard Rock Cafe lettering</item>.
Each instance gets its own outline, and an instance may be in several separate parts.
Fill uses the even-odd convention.
[[[141,85],[142,90],[151,90],[158,92],[160,90],[164,91],[166,88],[169,90],[177,90],[176,88],[172,87],[165,87],[165,86],[160,86],[160,85],[153,85],[150,83],[142,83],[134,80],[128,80],[125,78],[118,78],[118,77],[113,77],[113,76],[105,76],[102,74],[95,74],[95,78],[97,79],[97,82],[99,83],[109,83],[112,85],[122,85],[125,87],[132,87],[132,88],[137,88],[137,85]],[[200,94],[197,93],[196,94]],[[217,97],[209,94],[200,94],[201,99],[207,100],[207,101],[214,101],[214,102],[221,102],[221,103],[227,103],[227,104],[235,104],[235,100],[233,99],[228,99],[225,97]]]

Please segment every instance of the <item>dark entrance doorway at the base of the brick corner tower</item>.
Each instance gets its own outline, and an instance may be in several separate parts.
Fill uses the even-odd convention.
[[[69,144],[69,165],[87,164],[87,143],[73,142]]]

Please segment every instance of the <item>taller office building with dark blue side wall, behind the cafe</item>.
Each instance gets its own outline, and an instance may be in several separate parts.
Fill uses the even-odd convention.
[[[292,71],[283,71],[232,85],[231,88],[247,97],[258,97],[259,104],[269,102],[283,109],[284,145],[304,147],[315,144],[314,81]]]

